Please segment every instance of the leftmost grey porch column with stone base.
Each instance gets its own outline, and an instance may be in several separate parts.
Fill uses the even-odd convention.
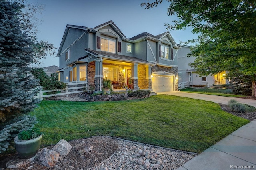
[[[103,59],[96,58],[95,59],[95,76],[94,76],[94,84],[95,84],[95,91],[100,91],[103,88]]]

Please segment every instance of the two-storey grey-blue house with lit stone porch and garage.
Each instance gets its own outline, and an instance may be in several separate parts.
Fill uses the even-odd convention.
[[[104,78],[132,89],[177,91],[179,49],[170,32],[126,38],[112,21],[94,28],[67,25],[57,54],[60,80],[95,91]]]

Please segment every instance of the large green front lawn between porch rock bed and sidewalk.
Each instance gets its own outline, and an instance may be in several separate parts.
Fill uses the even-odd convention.
[[[216,103],[171,95],[131,101],[42,101],[32,115],[38,118],[44,145],[106,135],[197,153],[249,122]]]

